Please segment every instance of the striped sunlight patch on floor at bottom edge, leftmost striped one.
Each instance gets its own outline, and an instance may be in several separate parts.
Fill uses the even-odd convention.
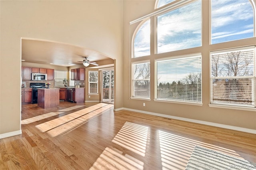
[[[143,170],[144,162],[124,154],[116,148],[106,147],[90,170]]]

